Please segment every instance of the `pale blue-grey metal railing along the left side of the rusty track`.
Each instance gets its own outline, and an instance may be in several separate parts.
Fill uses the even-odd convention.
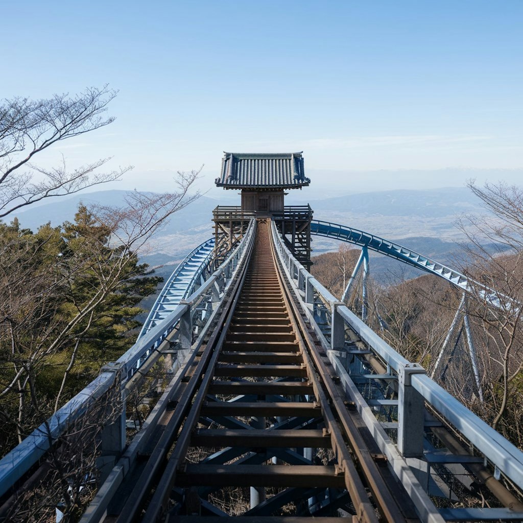
[[[0,496],[4,495],[49,450],[54,440],[63,434],[67,427],[85,414],[89,406],[110,389],[117,376],[124,388],[134,374],[149,363],[152,355],[157,353],[158,347],[175,329],[179,331],[177,339],[180,345],[190,348],[195,312],[201,308],[202,302],[211,300],[212,295],[214,301],[219,301],[234,276],[238,260],[253,237],[254,229],[254,223],[251,223],[243,241],[196,292],[180,302],[173,312],[139,338],[137,343],[116,362],[104,366],[95,380],[0,460]]]

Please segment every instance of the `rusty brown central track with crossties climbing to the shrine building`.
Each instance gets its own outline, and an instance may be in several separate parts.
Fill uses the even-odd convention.
[[[312,488],[289,522],[301,521],[304,510],[328,515],[325,503],[322,508],[313,496],[321,491],[324,501],[331,499],[332,489],[348,495],[340,498],[342,504],[333,503],[331,515],[343,507],[354,521],[411,521],[410,507],[405,510],[394,498],[401,486],[385,485],[376,449],[362,441],[361,427],[350,416],[347,421],[345,405],[340,412],[325,355],[279,276],[266,221],[258,222],[237,289],[199,349],[142,470],[132,475],[127,491],[120,490],[127,501],[112,516],[120,523],[188,521],[184,511],[194,517],[206,506],[212,513],[206,496],[220,488],[270,486],[279,489],[275,499],[280,494],[285,499],[289,489]]]

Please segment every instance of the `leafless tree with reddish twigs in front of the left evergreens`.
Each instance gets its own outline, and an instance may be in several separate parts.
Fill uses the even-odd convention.
[[[188,192],[198,173],[179,173],[179,190],[174,194],[134,191],[127,197],[127,207],[95,207],[88,213],[93,226],[82,226],[81,235],[73,240],[84,245],[67,264],[57,262],[58,246],[47,268],[32,264],[47,241],[60,237],[49,226],[39,231],[37,243],[17,241],[16,248],[4,243],[0,267],[0,315],[4,316],[0,318],[4,339],[0,398],[4,408],[0,416],[18,420],[18,441],[69,399],[64,390],[75,372],[81,344],[91,335],[92,323],[105,314],[105,303],[123,282],[140,276],[134,272],[137,250],[170,215],[199,197],[198,192]],[[87,287],[81,300],[75,298],[78,286]],[[66,305],[62,295],[71,297]],[[6,340],[10,340],[9,349]],[[103,356],[99,358],[103,363]],[[31,379],[51,363],[63,369],[59,391],[52,399],[37,394],[42,403],[37,407],[27,401],[27,391]],[[16,412],[13,396],[18,397]]]

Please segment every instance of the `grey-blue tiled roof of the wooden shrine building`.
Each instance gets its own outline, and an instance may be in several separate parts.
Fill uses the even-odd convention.
[[[218,187],[302,187],[309,185],[300,153],[224,153]]]

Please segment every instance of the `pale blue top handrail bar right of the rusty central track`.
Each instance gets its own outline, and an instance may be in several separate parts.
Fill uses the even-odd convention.
[[[317,221],[316,224],[332,225],[328,222]],[[368,235],[362,231],[351,230],[350,228],[345,228],[345,230],[347,230],[349,234],[366,235],[366,237],[361,238],[361,243],[359,244],[367,245],[376,251],[379,251],[379,245],[377,245],[376,242],[386,242],[382,240],[382,238]],[[293,257],[278,233],[274,222],[272,223],[272,236],[289,278],[292,280],[293,285],[301,291],[300,294],[302,297],[304,297],[302,301],[312,303],[310,295],[315,292],[327,306],[327,313],[330,315],[331,332],[333,335],[329,341],[327,341],[326,337],[320,335],[320,338],[323,338],[322,343],[330,345],[330,347],[327,348],[337,348],[334,346],[334,333],[337,331],[338,333],[343,333],[342,336],[344,336],[346,325],[358,334],[362,342],[365,342],[374,356],[386,362],[390,369],[394,370],[397,374],[405,374],[405,371],[414,370],[415,372],[409,376],[410,384],[423,396],[424,400],[441,416],[446,418],[465,439],[470,441],[477,450],[509,477],[511,481],[516,485],[523,485],[523,452],[487,425],[435,381],[431,380],[422,367],[406,360],[397,353],[385,340],[351,312],[343,302],[340,302],[332,293],[326,290],[325,287]],[[394,245],[394,247],[400,246]],[[389,245],[389,248],[392,247]],[[397,259],[400,258],[397,257]],[[334,325],[334,321],[339,321],[334,320],[335,318],[341,319],[343,326]],[[343,345],[344,343],[342,343],[342,346]]]

